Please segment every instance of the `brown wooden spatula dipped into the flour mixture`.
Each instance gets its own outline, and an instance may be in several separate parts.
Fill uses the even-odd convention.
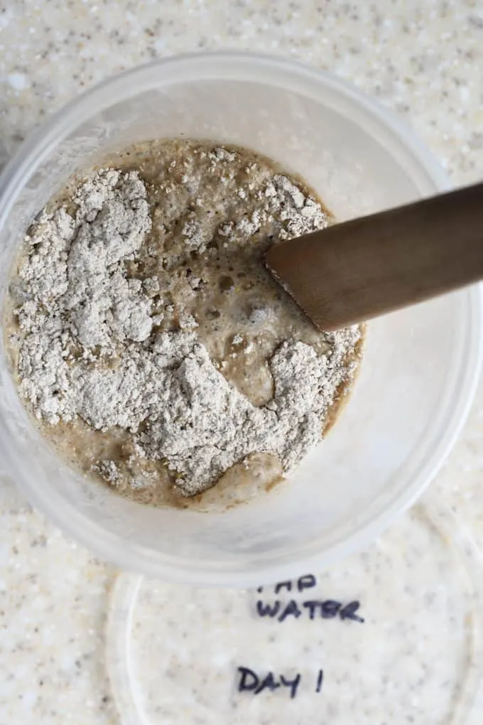
[[[265,262],[321,330],[483,278],[483,183],[276,244]]]

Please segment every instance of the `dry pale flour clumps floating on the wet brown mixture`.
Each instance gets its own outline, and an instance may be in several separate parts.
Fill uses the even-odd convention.
[[[218,149],[211,164],[231,162],[228,153]],[[227,244],[235,234],[249,239],[269,215],[285,220],[280,236],[327,225],[322,207],[285,176],[272,175],[257,193],[263,218],[253,212],[224,225]],[[35,221],[12,285],[20,392],[35,415],[51,426],[81,419],[95,431],[127,431],[138,459],[167,462],[186,496],[253,453],[275,455],[285,471],[297,465],[322,438],[321,421],[353,376],[358,328],[326,336],[326,354],[283,341],[268,360],[272,398],[253,405],[210,359],[192,314],[180,313],[177,329],[159,330],[159,279],[135,276],[152,225],[138,173],[100,170],[72,201]],[[180,236],[193,254],[210,242],[196,219],[182,225]],[[174,306],[165,302],[172,315]],[[252,328],[270,315],[269,308],[253,308]],[[230,339],[240,344],[243,336]],[[96,470],[117,484],[117,462],[98,461]]]

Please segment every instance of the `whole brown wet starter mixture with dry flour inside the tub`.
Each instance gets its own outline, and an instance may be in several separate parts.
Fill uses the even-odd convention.
[[[72,180],[11,284],[12,368],[43,433],[153,504],[280,480],[333,420],[361,331],[317,331],[262,255],[327,223],[245,149],[153,141]]]

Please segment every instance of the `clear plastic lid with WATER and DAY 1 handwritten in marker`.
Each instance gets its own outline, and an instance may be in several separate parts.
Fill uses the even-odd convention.
[[[432,497],[366,551],[276,586],[122,574],[107,642],[122,724],[476,725],[482,573]]]

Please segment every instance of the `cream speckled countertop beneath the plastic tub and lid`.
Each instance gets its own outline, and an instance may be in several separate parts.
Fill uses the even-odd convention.
[[[0,144],[106,76],[196,49],[281,54],[406,117],[456,183],[483,176],[482,0],[7,0]],[[0,149],[1,159],[1,149]],[[483,384],[433,490],[483,545]],[[115,723],[104,671],[114,571],[0,484],[0,724]]]

